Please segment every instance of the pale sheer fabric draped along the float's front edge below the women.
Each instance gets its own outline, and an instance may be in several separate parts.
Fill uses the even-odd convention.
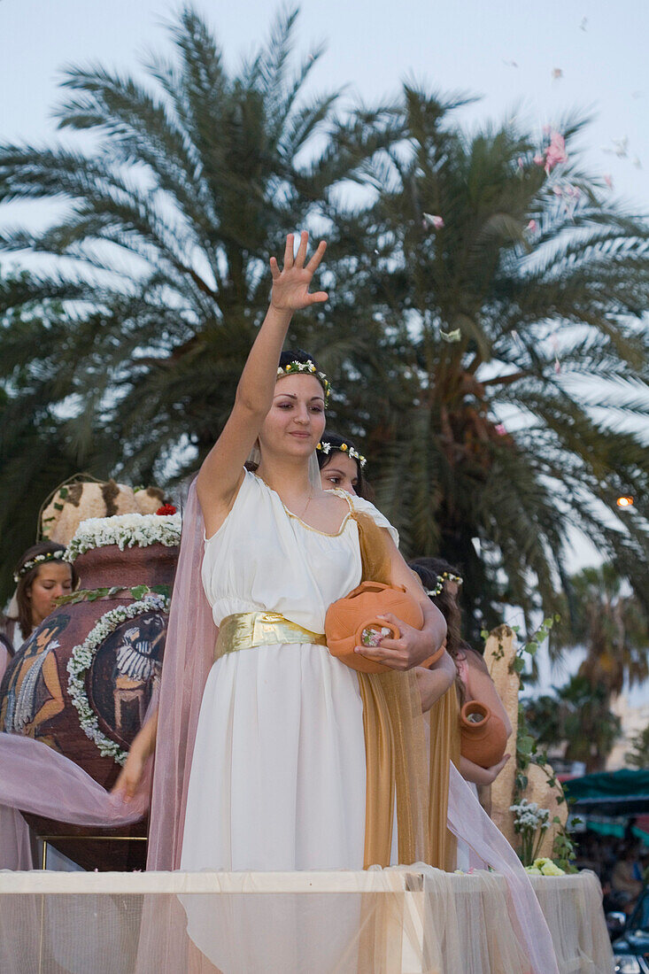
[[[596,877],[532,884],[560,974],[610,974]],[[498,875],[419,864],[327,873],[0,873],[0,970],[213,974],[187,936],[182,897],[221,923],[224,974],[526,974],[506,896]],[[242,916],[252,920],[245,936]],[[297,938],[283,936],[286,929]]]

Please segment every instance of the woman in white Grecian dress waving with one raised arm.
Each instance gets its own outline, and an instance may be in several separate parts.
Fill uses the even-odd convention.
[[[182,843],[188,870],[363,867],[363,703],[356,672],[327,653],[323,633],[328,606],[361,581],[350,514],[389,525],[368,502],[324,491],[309,475],[325,429],[322,373],[297,363],[278,374],[293,312],[326,300],[309,292],[325,244],[308,262],[307,244],[302,234],[293,254],[288,236],[282,271],[271,259],[268,314],[197,479],[204,588],[219,642],[233,624],[236,634],[217,650],[203,694]],[[244,468],[253,448],[255,473]],[[363,654],[405,670],[435,652],[445,623],[384,533],[393,581],[418,599],[425,623],[401,623],[400,639]],[[255,645],[241,629],[254,613],[281,617],[275,641]],[[291,634],[282,642],[284,623]],[[442,657],[440,693],[449,663]]]

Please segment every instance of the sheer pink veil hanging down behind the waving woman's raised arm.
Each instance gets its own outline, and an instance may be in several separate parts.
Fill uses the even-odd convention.
[[[146,868],[180,868],[189,773],[217,629],[203,590],[205,540],[196,481],[183,511],[160,688]]]

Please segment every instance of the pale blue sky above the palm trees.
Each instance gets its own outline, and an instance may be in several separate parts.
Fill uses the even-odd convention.
[[[99,62],[137,71],[147,50],[170,51],[164,22],[178,7],[166,0],[0,0],[0,138],[51,144],[60,67]],[[260,0],[195,0],[195,7],[231,65],[266,38],[279,9]],[[516,111],[541,131],[572,109],[591,109],[595,120],[582,139],[589,169],[610,175],[613,193],[632,212],[649,211],[645,0],[304,0],[297,50],[320,42],[326,52],[313,87],[347,85],[350,97],[366,103],[394,96],[401,81],[414,78],[441,93],[482,95],[460,116],[471,125]],[[39,204],[29,210],[35,219],[47,214]],[[0,222],[10,214],[13,222],[16,207],[0,212]],[[583,560],[592,561],[590,551]]]

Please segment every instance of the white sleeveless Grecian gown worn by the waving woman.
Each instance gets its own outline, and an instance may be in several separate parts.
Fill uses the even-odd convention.
[[[341,492],[396,536],[374,506]],[[312,632],[361,580],[358,526],[336,535],[290,514],[246,472],[205,544],[214,622],[268,611]],[[192,761],[183,870],[362,869],[363,704],[356,672],[312,644],[261,646],[210,670]]]

